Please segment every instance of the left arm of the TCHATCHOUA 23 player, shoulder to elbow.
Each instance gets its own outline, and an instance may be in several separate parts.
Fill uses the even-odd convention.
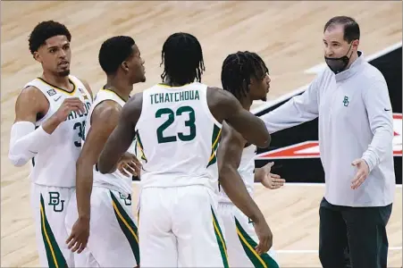
[[[98,158],[98,169],[101,173],[111,173],[116,170],[116,165],[122,155],[129,149],[136,136],[136,124],[139,121],[141,107],[143,105],[143,93],[131,96],[123,106],[118,125],[113,130],[105,147]]]

